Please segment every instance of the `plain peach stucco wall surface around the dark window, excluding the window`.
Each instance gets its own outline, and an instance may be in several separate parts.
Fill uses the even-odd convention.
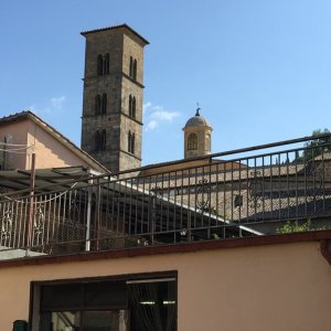
[[[178,330],[330,330],[318,242],[0,268],[0,330],[28,319],[30,281],[178,270]],[[34,329],[35,330],[35,329]]]

